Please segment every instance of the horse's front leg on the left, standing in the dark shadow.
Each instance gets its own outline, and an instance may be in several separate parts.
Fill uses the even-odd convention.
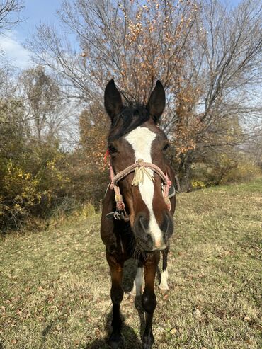
[[[123,275],[123,263],[120,263],[115,260],[115,258],[110,254],[106,253],[106,258],[108,261],[108,265],[110,267],[110,275],[111,275],[111,300],[113,303],[113,320],[112,320],[112,328],[113,331],[110,335],[108,344],[112,349],[120,348],[122,344],[122,336],[121,336],[121,327],[122,321],[120,318],[120,303],[123,299],[123,288],[122,288],[122,275]]]

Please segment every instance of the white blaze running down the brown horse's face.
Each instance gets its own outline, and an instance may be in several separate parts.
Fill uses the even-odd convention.
[[[135,161],[143,159],[145,162],[152,163],[151,148],[152,142],[156,138],[156,133],[150,131],[147,127],[137,127],[132,130],[125,139],[135,151]],[[148,169],[153,175],[153,171]],[[139,184],[139,191],[142,200],[149,210],[149,234],[151,234],[156,247],[162,246],[162,233],[153,211],[154,183],[147,176],[144,176],[144,183]]]

